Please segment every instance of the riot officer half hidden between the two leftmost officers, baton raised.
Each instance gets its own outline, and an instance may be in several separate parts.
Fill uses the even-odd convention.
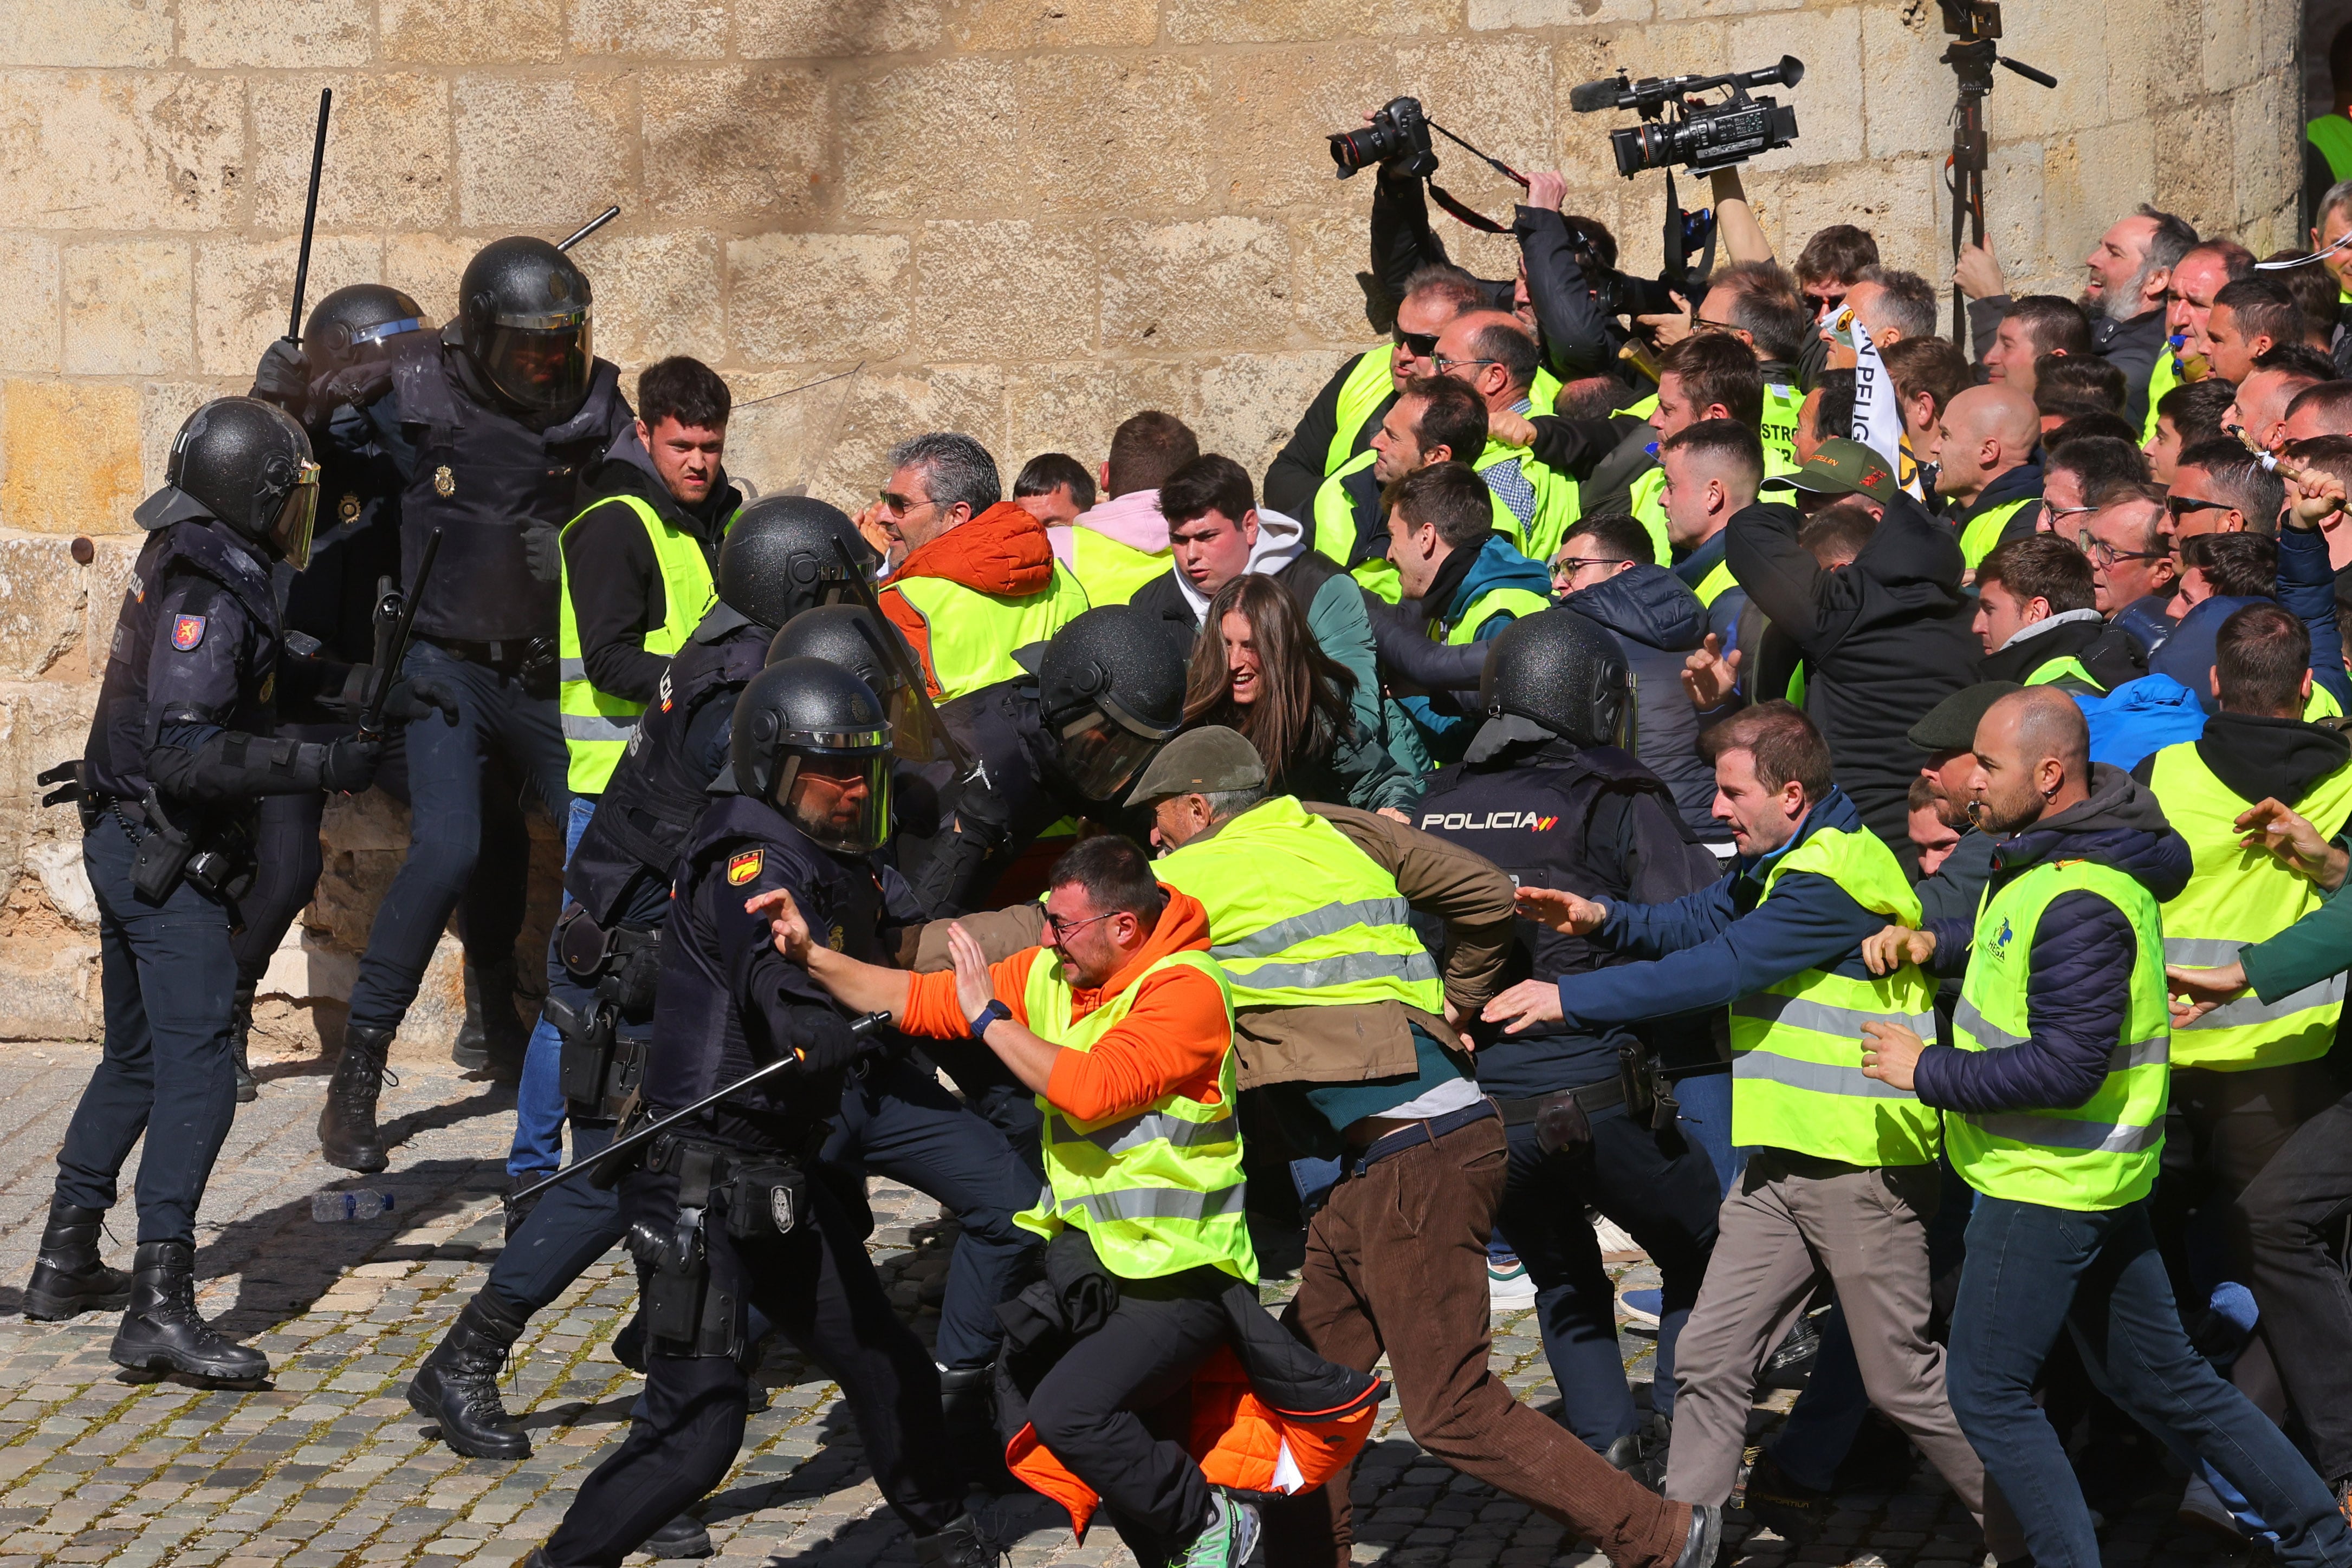
[[[322,651],[350,665],[376,663],[376,637],[390,632],[379,611],[379,583],[400,581],[400,465],[353,400],[390,388],[393,369],[412,355],[435,353],[433,322],[423,306],[400,289],[379,282],[355,282],[318,301],[303,324],[301,346],[280,339],[263,355],[254,376],[254,397],[275,402],[294,418],[320,409],[318,494],[320,520],[310,541],[310,564],[294,571],[287,562],[273,569],[278,609],[294,651]],[[306,381],[308,376],[308,381]],[[332,425],[332,435],[325,430]],[[341,693],[315,701],[282,698],[278,733],[301,741],[334,741],[350,733],[353,710]],[[407,804],[407,759],[393,743],[386,750],[376,788]],[[318,825],[325,795],[266,795],[254,820],[254,891],[238,900],[245,929],[235,936],[238,999],[228,1044],[238,1070],[238,1100],[252,1100],[254,1077],[247,1067],[247,1037],[254,1020],[254,992],[285,940],[287,926],[318,891],[322,870]],[[499,980],[496,954],[510,954],[522,931],[522,882],[529,844],[513,788],[482,792],[485,853],[466,884],[459,905],[459,936],[466,940],[466,1027],[459,1034],[459,1060],[482,1065],[482,1037],[489,1030],[520,1030],[513,1009],[513,976],[499,997],[482,1006],[485,985],[477,971]],[[475,952],[492,954],[482,964]],[[503,997],[506,1006],[499,1006]]]

